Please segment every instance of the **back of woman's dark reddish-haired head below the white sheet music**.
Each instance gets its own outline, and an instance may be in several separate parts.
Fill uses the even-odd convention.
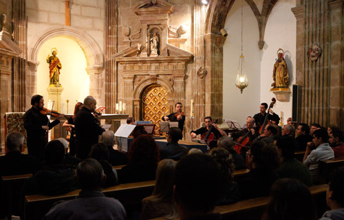
[[[146,166],[158,164],[160,152],[158,144],[151,135],[139,135],[130,144],[128,152],[129,164]]]

